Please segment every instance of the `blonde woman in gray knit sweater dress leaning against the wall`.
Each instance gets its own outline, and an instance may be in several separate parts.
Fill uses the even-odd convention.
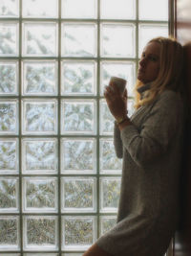
[[[127,116],[127,91],[114,84],[104,96],[116,119],[114,145],[123,158],[117,225],[83,256],[162,256],[178,221],[184,129],[183,50],[157,37],[138,66],[137,111]]]

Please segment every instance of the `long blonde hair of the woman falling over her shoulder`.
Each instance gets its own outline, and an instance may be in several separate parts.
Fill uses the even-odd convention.
[[[137,81],[135,86],[136,105],[138,109],[141,105],[152,103],[157,95],[165,89],[180,92],[182,86],[183,72],[183,47],[175,38],[156,37],[148,43],[158,42],[160,44],[160,63],[159,75],[155,81],[151,82],[151,88],[146,92],[147,95],[142,100],[138,93],[138,87],[142,85],[141,81]]]

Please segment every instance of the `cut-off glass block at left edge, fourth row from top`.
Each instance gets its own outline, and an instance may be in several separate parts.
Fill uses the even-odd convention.
[[[17,134],[18,102],[4,100],[0,102],[0,134]]]

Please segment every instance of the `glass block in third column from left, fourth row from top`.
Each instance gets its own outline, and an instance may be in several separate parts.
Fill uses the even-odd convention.
[[[96,134],[96,101],[63,100],[61,121],[62,134]]]

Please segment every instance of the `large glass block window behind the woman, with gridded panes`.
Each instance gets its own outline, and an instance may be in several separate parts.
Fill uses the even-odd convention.
[[[167,4],[0,1],[0,255],[82,256],[115,226],[122,161],[104,86],[127,80],[131,116]]]

